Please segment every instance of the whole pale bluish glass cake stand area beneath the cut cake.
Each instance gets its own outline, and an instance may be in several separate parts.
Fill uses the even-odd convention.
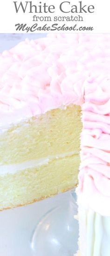
[[[78,222],[74,191],[0,212],[0,256],[74,256]]]

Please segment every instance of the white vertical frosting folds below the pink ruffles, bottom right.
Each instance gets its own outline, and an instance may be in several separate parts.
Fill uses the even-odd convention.
[[[80,208],[79,222],[81,256],[110,256],[110,216]]]

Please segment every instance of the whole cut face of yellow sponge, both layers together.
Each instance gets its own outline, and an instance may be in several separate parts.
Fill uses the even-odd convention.
[[[32,160],[40,164],[0,174],[0,209],[38,201],[73,188],[80,163],[81,131],[81,108],[73,105],[48,111],[2,132],[0,166],[7,167],[7,172],[15,164]]]

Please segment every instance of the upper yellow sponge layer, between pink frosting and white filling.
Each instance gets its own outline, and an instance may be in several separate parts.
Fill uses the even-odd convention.
[[[81,108],[75,105],[12,126],[0,133],[0,165],[79,152],[81,130]]]

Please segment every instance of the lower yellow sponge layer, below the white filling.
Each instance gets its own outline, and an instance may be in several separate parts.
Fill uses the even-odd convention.
[[[0,176],[0,209],[35,202],[77,184],[78,155],[52,159],[48,164]]]

